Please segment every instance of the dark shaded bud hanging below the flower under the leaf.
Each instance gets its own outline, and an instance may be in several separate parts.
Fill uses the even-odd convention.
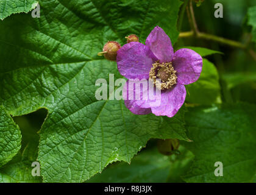
[[[177,139],[166,139],[157,141],[158,151],[163,155],[179,154],[179,151],[177,151],[179,145],[180,143]]]

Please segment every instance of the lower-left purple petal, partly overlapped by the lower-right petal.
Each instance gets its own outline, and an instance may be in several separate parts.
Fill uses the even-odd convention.
[[[135,115],[147,115],[152,113],[150,107],[145,108],[145,106],[143,106],[146,103],[146,98],[143,98],[143,93],[147,93],[148,91],[148,80],[143,79],[141,82],[138,82],[138,85],[135,83],[136,82],[132,82],[132,80],[127,80],[126,85],[124,85],[124,104],[130,112]],[[144,88],[143,83],[146,84]]]

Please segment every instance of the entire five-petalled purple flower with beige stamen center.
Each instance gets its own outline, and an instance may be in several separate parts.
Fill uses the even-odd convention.
[[[136,115],[176,115],[186,98],[184,85],[196,82],[202,71],[201,55],[191,49],[179,49],[174,53],[171,40],[158,26],[149,34],[146,45],[138,42],[124,44],[117,52],[116,62],[119,72],[127,79],[150,80],[161,89],[160,104],[149,98],[129,99],[126,98],[129,94],[141,97],[143,91],[130,90],[127,80],[124,103]]]

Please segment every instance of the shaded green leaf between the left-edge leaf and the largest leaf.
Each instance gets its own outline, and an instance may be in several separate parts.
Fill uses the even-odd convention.
[[[37,161],[38,154],[39,135],[37,131],[40,128],[38,125],[41,124],[41,121],[31,117],[33,115],[35,113],[13,118],[20,127],[23,147],[11,161],[0,168],[0,182],[35,183],[42,180],[41,177],[32,176],[32,162]]]

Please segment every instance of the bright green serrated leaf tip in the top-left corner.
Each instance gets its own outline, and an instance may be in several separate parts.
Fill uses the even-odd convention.
[[[35,9],[38,1],[35,0],[1,0],[0,19],[4,19],[13,13],[29,12]]]

